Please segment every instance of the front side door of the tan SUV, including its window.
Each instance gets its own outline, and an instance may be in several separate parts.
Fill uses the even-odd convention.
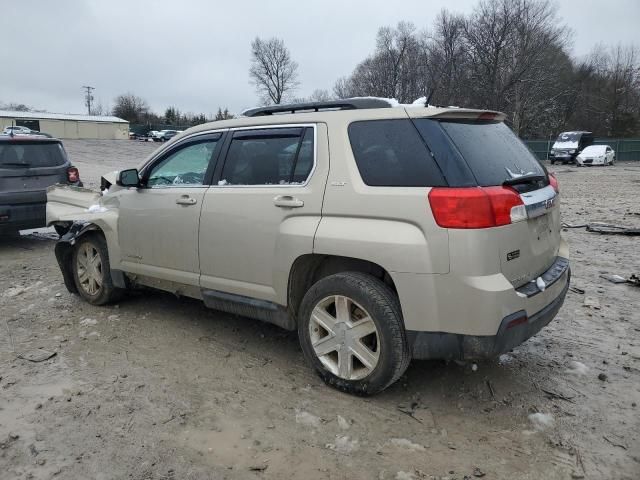
[[[198,226],[220,133],[176,144],[141,173],[141,188],[120,198],[122,269],[198,285]]]

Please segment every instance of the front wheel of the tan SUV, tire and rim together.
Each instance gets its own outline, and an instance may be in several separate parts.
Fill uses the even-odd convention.
[[[90,233],[76,243],[72,256],[73,278],[78,293],[93,305],[114,302],[122,290],[113,286],[109,253],[104,237]]]

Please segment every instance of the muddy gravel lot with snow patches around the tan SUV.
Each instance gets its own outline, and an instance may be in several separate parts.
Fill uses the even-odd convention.
[[[88,184],[158,145],[67,141]],[[640,163],[555,166],[563,220],[640,227]],[[640,238],[565,232],[558,317],[499,359],[413,362],[356,398],[296,335],[172,295],[93,307],[69,294],[55,234],[0,241],[2,479],[637,479]],[[43,348],[42,362],[18,354]]]

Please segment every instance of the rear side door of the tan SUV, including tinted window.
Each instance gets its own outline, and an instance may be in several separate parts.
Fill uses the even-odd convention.
[[[313,250],[328,173],[326,128],[270,126],[229,136],[202,207],[200,284],[281,303],[288,265]]]

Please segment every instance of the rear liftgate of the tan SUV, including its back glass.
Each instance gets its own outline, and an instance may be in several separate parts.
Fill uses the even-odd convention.
[[[414,123],[449,186],[501,186],[519,177],[544,177],[513,186],[526,206],[524,221],[475,230],[473,237],[450,230],[449,238],[461,245],[473,238],[478,252],[494,252],[501,272],[516,287],[548,269],[560,247],[559,202],[546,171],[522,141],[503,122],[425,118]]]

